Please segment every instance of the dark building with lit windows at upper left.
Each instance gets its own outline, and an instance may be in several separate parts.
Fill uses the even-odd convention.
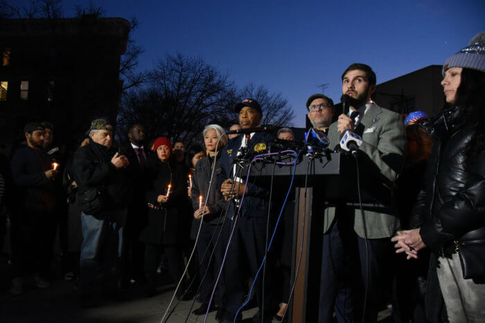
[[[0,20],[0,143],[26,122],[54,124],[55,140],[79,140],[96,116],[116,121],[121,55],[130,23],[84,15]]]

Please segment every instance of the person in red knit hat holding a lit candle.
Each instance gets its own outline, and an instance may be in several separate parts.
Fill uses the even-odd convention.
[[[148,222],[140,240],[145,243],[145,273],[147,286],[145,296],[156,294],[157,268],[161,252],[168,261],[168,271],[178,282],[184,271],[183,245],[188,235],[181,212],[186,199],[186,176],[184,167],[172,156],[172,144],[166,137],[159,137],[153,145],[155,154],[149,155],[143,171],[145,200],[149,207]],[[170,188],[169,188],[170,185]],[[184,288],[179,288],[179,297]]]

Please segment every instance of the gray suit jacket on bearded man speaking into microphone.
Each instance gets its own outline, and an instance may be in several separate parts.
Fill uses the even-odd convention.
[[[371,104],[360,123],[363,126],[360,154],[367,154],[371,162],[379,169],[379,174],[375,174],[376,179],[379,178],[383,185],[391,189],[404,162],[403,119],[398,113],[382,109],[377,104]],[[339,143],[340,137],[337,122],[330,124],[328,139],[331,149],[334,149]],[[361,170],[361,172],[364,171],[365,169]],[[400,229],[397,214],[364,210],[364,218],[369,239],[392,237]],[[330,228],[333,219],[335,219],[335,207],[327,207],[324,210],[324,233]],[[358,208],[354,212],[353,228],[360,237],[364,237],[364,224]]]

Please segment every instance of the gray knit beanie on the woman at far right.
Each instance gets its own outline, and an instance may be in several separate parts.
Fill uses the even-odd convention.
[[[485,32],[478,33],[468,46],[446,59],[441,71],[443,77],[445,71],[452,67],[470,68],[485,73]]]

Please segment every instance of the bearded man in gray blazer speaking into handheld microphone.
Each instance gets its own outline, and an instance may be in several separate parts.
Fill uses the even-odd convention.
[[[350,109],[330,125],[328,140],[334,149],[346,131],[361,136],[357,157],[361,190],[376,185],[390,193],[403,166],[404,123],[398,113],[371,100],[374,91],[376,74],[370,66],[355,63],[346,68],[342,93],[349,95]],[[362,178],[370,181],[362,183]],[[319,322],[331,322],[333,311],[339,322],[377,320],[379,298],[386,295],[382,290],[390,286],[394,256],[390,238],[400,223],[389,205],[378,202],[366,203],[363,213],[355,203],[324,210]]]

